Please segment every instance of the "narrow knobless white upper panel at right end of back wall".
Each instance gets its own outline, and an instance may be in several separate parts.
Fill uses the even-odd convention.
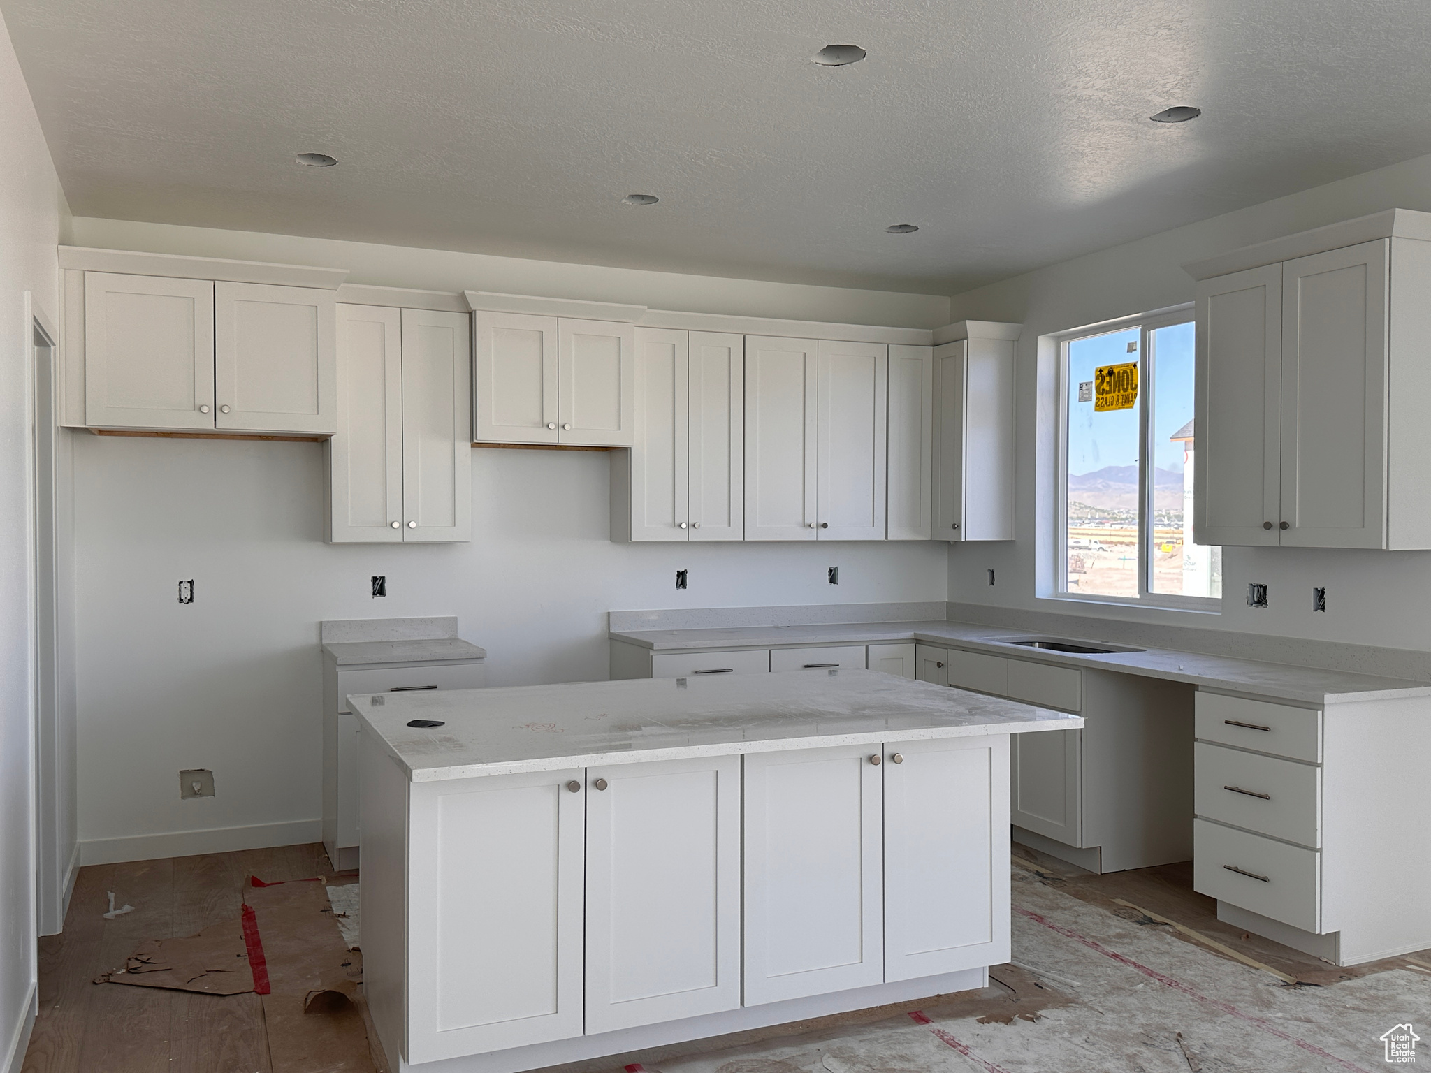
[[[890,346],[889,393],[889,538],[927,541],[934,492],[932,346]]]

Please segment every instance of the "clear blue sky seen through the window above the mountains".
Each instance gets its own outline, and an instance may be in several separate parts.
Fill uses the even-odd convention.
[[[1182,471],[1182,444],[1168,439],[1192,419],[1192,323],[1171,325],[1153,333],[1158,385],[1153,399],[1153,445],[1161,469]],[[1078,385],[1093,379],[1100,365],[1139,361],[1128,345],[1138,343],[1138,329],[1108,332],[1069,343],[1069,472],[1090,474],[1103,466],[1138,464],[1138,408],[1096,413],[1092,402],[1078,401]],[[1139,405],[1148,403],[1148,378],[1139,361]]]

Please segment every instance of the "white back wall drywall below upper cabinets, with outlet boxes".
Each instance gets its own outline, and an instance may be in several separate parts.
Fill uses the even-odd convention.
[[[605,678],[610,609],[946,584],[943,544],[612,544],[604,452],[474,449],[471,544],[329,547],[322,445],[69,435],[86,861],[318,838],[325,618],[458,615],[489,684],[525,685]],[[179,800],[190,767],[213,770],[215,797]]]

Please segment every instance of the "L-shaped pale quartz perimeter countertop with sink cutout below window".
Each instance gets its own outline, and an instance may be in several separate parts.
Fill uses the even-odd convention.
[[[1391,698],[1431,697],[1431,682],[1404,678],[1381,678],[1349,671],[1331,671],[1294,664],[1258,662],[1225,655],[1203,655],[1168,648],[1119,651],[1099,655],[1053,652],[1040,648],[1010,645],[1013,638],[1045,637],[1029,631],[973,625],[969,622],[839,622],[829,625],[740,627],[730,629],[643,629],[610,634],[657,652],[713,648],[778,648],[783,645],[837,645],[881,641],[917,641],[924,644],[953,644],[969,651],[1006,655],[1059,667],[1122,671],[1151,678],[1229,690],[1269,700],[1299,704],[1338,704]],[[1053,634],[1047,634],[1053,637]],[[1063,635],[1078,641],[1075,635]],[[1088,644],[1102,644],[1089,641]],[[1126,648],[1126,645],[1106,645]]]

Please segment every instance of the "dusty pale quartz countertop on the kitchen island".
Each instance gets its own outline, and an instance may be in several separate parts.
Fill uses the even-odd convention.
[[[414,783],[1083,725],[1060,711],[857,670],[355,694],[349,704]]]

